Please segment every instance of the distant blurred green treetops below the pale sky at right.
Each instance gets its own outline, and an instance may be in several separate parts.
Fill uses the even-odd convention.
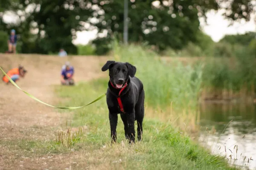
[[[256,33],[226,35],[221,41],[213,42],[212,39],[199,31],[197,42],[189,42],[181,50],[168,48],[161,54],[174,57],[239,57],[241,53],[256,56]],[[249,52],[249,53],[248,53]]]

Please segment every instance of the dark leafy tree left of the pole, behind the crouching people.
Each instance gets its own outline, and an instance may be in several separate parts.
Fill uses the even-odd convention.
[[[90,15],[87,3],[82,0],[32,0],[28,5],[32,3],[36,8],[30,17],[38,29],[36,44],[41,53],[55,53],[64,48],[67,53],[76,54],[72,40],[76,38],[76,31],[85,30],[81,21],[86,21]]]

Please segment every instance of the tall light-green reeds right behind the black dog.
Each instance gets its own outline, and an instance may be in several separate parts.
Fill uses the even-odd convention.
[[[156,53],[137,45],[120,46],[114,42],[116,61],[137,67],[136,76],[144,85],[145,101],[153,107],[182,111],[195,108],[201,90],[203,65],[183,65],[178,60],[164,63]],[[180,110],[181,109],[181,110]]]

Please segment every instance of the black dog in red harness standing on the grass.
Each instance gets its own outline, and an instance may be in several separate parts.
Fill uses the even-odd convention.
[[[141,140],[144,118],[143,84],[137,77],[136,67],[128,62],[107,61],[102,71],[109,70],[107,104],[112,142],[116,142],[117,114],[120,113],[125,125],[125,137],[135,142],[134,123],[137,120],[137,137]]]

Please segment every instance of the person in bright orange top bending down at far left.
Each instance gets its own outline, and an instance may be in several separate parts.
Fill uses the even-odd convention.
[[[19,65],[18,68],[12,68],[7,72],[7,75],[12,79],[12,81],[17,82],[17,80],[20,79],[20,77],[25,77],[26,70],[22,65]],[[4,75],[3,81],[6,82],[6,84],[9,84],[9,79]]]

